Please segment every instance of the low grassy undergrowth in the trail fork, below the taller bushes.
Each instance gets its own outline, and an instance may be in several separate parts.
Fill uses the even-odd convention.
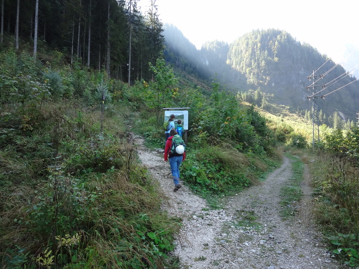
[[[181,175],[198,195],[233,195],[255,184],[271,165],[269,160],[222,144],[188,151]]]

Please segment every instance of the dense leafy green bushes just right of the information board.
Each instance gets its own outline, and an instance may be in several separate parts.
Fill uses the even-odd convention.
[[[235,96],[219,91],[219,87],[213,82],[211,102],[201,112],[198,122],[192,123],[191,137],[199,144],[231,141],[244,152],[270,153],[273,139],[266,120],[253,107],[247,109],[238,103]]]

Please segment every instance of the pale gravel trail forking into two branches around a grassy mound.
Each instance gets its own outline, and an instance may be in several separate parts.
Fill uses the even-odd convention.
[[[211,210],[186,185],[173,192],[162,149],[148,150],[139,136],[133,140],[139,159],[168,198],[163,210],[183,220],[174,252],[181,268],[340,268],[312,223],[307,171],[304,198],[296,205],[299,214],[290,221],[279,215],[280,189],[292,175],[288,158],[261,185],[228,198],[223,209]]]

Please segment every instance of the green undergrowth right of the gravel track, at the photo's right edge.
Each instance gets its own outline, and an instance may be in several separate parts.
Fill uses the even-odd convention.
[[[352,140],[353,141],[353,140]],[[336,140],[340,147],[344,143]],[[332,253],[343,263],[359,265],[359,170],[354,158],[320,152],[310,166],[316,220],[323,227]]]

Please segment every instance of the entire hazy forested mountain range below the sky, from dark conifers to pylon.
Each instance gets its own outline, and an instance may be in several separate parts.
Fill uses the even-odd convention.
[[[318,96],[328,95],[325,99],[318,98],[318,109],[326,115],[338,111],[343,119],[355,120],[359,100],[356,78],[285,31],[255,30],[229,45],[218,40],[208,42],[200,51],[194,51],[187,39],[179,42],[181,35],[175,35],[175,31],[179,30],[166,26],[164,35],[166,48],[170,50],[167,55],[173,55],[174,51],[181,55],[177,60],[167,57],[176,67],[183,68],[177,64],[178,58],[187,57],[187,63],[194,67],[184,67],[188,72],[197,72],[208,81],[217,78],[234,92],[260,90],[272,104],[290,106],[300,112],[311,109],[312,99],[307,97],[312,95],[313,88],[307,87],[317,80],[316,91],[321,91]],[[188,51],[191,51],[189,55]],[[317,78],[309,80],[313,71]]]

